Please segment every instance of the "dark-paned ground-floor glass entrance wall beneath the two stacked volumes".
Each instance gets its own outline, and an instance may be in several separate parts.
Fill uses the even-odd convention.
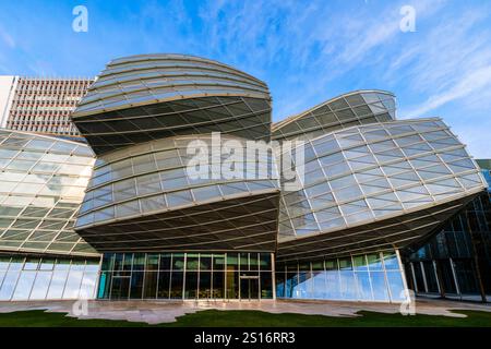
[[[106,253],[99,299],[272,299],[271,253]]]

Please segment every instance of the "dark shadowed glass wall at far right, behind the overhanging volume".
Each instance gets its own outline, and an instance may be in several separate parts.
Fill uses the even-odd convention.
[[[491,200],[475,198],[420,249],[405,251],[408,286],[421,296],[491,301]]]

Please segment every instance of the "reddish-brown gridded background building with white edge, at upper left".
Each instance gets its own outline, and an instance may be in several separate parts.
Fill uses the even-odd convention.
[[[70,115],[92,82],[91,79],[0,76],[0,127],[79,137]]]

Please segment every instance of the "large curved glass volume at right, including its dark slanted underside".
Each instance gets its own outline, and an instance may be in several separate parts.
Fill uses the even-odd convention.
[[[302,151],[304,165],[297,171],[304,173],[303,189],[282,195],[285,257],[311,254],[319,239],[331,240],[326,254],[408,244],[439,224],[434,210],[486,188],[465,146],[440,119],[352,127],[310,140]],[[405,220],[417,210],[410,231],[400,221],[398,231],[380,229],[384,219]],[[300,248],[303,238],[311,239]]]

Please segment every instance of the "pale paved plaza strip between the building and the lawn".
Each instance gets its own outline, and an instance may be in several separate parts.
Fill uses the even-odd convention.
[[[335,301],[88,301],[84,311],[81,302],[0,302],[0,313],[16,311],[46,310],[67,313],[79,318],[122,320],[159,324],[175,322],[176,317],[204,310],[254,310],[268,313],[297,313],[326,316],[359,316],[359,311],[394,314],[400,304],[335,302]],[[446,300],[418,299],[416,313],[465,317],[452,310],[474,310],[491,312],[491,304],[454,302]]]

